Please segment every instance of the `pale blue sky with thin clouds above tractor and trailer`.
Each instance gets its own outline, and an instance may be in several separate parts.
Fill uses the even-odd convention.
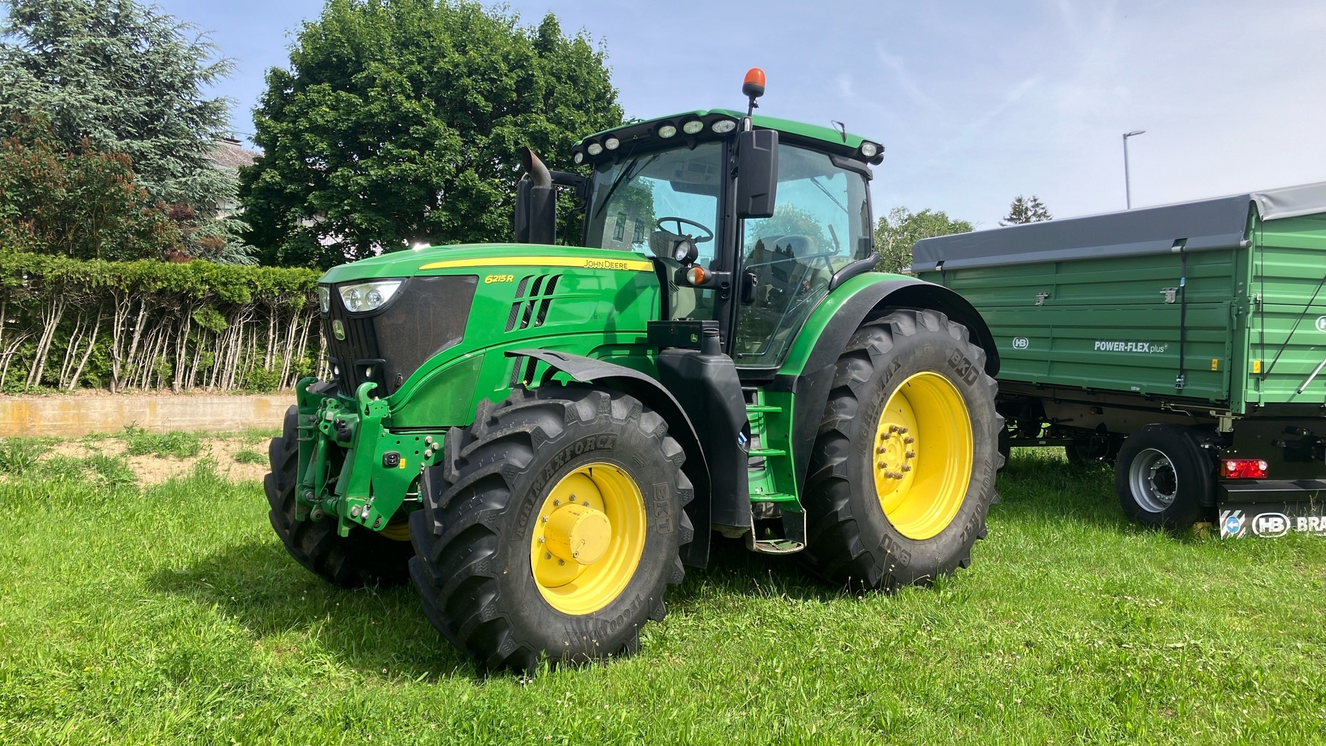
[[[316,0],[156,0],[211,33],[251,112]],[[716,3],[512,0],[603,45],[627,117],[740,108],[884,145],[875,215],[941,210],[998,226],[1017,195],[1055,218],[1326,181],[1326,1]],[[587,134],[587,133],[586,133]]]

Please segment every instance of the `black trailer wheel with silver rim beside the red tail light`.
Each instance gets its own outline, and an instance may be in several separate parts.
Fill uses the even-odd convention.
[[[1119,449],[1119,507],[1143,526],[1185,528],[1203,518],[1215,491],[1215,463],[1183,425],[1147,425]]]

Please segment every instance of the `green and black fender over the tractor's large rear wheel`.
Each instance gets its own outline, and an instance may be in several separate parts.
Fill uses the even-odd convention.
[[[963,324],[971,332],[972,341],[985,350],[985,373],[992,378],[998,373],[994,336],[980,312],[956,292],[916,277],[874,272],[842,283],[841,288],[812,312],[797,344],[769,386],[774,392],[794,394],[792,453],[798,494],[805,487],[810,451],[833,389],[838,356],[863,321],[878,319],[895,308],[939,311]]]

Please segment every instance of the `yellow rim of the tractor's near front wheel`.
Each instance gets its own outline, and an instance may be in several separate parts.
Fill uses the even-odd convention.
[[[554,609],[582,616],[622,595],[644,554],[644,498],[611,463],[562,477],[538,508],[529,539],[534,584]]]

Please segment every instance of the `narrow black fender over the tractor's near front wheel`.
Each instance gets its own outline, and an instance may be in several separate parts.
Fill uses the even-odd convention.
[[[530,357],[546,364],[548,372],[541,380],[545,384],[554,373],[561,372],[582,384],[594,382],[625,392],[640,400],[642,404],[667,421],[668,434],[676,438],[686,453],[682,471],[695,487],[695,499],[684,508],[695,535],[688,544],[682,546],[682,563],[703,569],[709,561],[709,504],[712,502],[709,466],[704,459],[704,450],[700,447],[695,426],[691,425],[691,418],[686,415],[686,410],[682,409],[676,397],[656,378],[646,373],[593,357],[550,349],[517,349],[508,352],[507,357]]]

